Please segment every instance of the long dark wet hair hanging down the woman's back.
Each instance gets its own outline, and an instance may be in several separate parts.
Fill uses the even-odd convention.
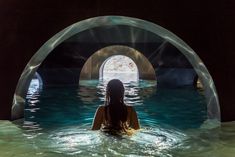
[[[123,99],[123,83],[118,79],[109,81],[106,87],[105,119],[109,111],[112,129],[124,129],[123,124],[127,121],[127,107]]]

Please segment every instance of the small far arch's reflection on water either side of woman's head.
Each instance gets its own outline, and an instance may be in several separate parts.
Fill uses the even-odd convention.
[[[80,81],[78,97],[83,103],[91,104],[98,97],[101,102],[105,101],[106,86],[108,81],[98,80]],[[156,92],[156,81],[138,81],[124,83],[125,102],[130,105],[141,105],[143,99],[150,97]]]

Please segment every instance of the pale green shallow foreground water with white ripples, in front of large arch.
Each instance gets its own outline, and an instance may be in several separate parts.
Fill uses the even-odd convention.
[[[0,156],[3,157],[233,157],[235,153],[235,123],[232,122],[209,130],[142,128],[133,136],[118,138],[80,126],[36,134],[36,131],[27,132],[9,121],[0,121],[0,135]]]

